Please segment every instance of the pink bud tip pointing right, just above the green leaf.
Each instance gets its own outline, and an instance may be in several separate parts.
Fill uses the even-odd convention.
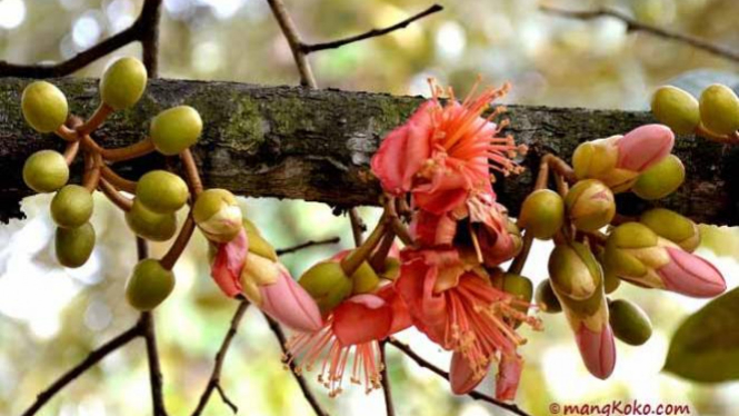
[[[667,247],[671,261],[657,274],[668,290],[692,297],[713,297],[726,290],[721,273],[701,257],[679,248]]]

